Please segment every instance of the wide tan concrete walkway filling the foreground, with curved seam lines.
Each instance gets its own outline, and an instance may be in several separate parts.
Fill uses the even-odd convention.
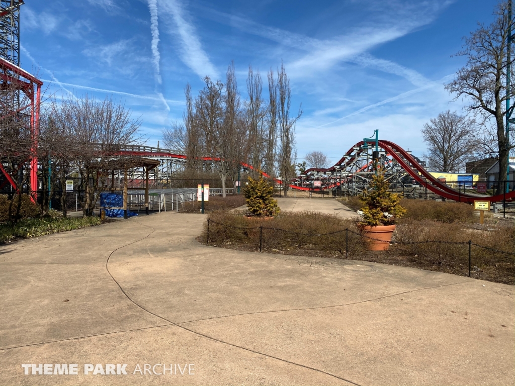
[[[515,383],[512,286],[208,247],[195,241],[204,219],[139,216],[0,247],[0,383]],[[78,375],[24,375],[32,363]],[[149,374],[163,363],[172,375]]]

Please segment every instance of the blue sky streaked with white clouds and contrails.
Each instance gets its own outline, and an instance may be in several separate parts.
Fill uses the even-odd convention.
[[[443,83],[464,59],[451,57],[496,1],[185,0],[31,1],[21,7],[21,66],[58,93],[122,99],[141,117],[148,145],[181,119],[183,88],[223,78],[234,60],[246,96],[248,65],[283,61],[291,80],[299,161],[322,150],[337,161],[380,137],[422,155],[420,129],[451,102]]]

